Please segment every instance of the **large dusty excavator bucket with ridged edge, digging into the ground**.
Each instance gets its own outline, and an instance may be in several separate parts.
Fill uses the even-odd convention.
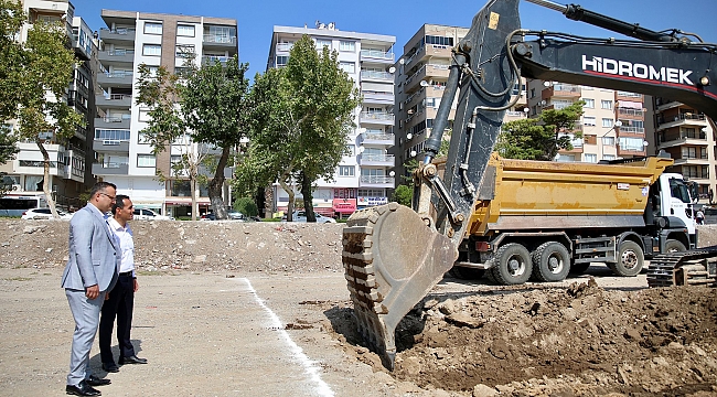
[[[396,326],[450,270],[457,247],[413,210],[389,203],[351,215],[342,257],[360,332],[393,369]]]

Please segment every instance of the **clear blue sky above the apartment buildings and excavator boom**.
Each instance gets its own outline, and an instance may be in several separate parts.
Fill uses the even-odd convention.
[[[266,69],[275,25],[314,26],[315,21],[334,22],[338,30],[386,34],[396,37],[396,58],[403,46],[424,23],[470,28],[473,15],[486,0],[452,2],[441,0],[376,1],[354,3],[340,0],[69,0],[75,15],[93,30],[106,28],[101,9],[169,14],[232,18],[237,20],[239,61],[249,63],[249,75]],[[565,3],[560,0],[553,2]],[[717,43],[717,0],[576,0],[584,9],[653,31],[679,29]],[[449,6],[450,4],[450,6]],[[617,33],[571,21],[561,13],[527,1],[520,6],[524,29],[548,30],[584,36],[610,37]]]

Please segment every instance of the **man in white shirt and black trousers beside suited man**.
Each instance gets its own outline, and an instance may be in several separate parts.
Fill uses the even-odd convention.
[[[128,224],[128,221],[132,219],[133,212],[135,205],[129,196],[118,194],[117,201],[113,205],[113,216],[108,218],[109,227],[115,233],[115,238],[121,249],[121,265],[117,286],[103,305],[99,320],[99,355],[103,369],[107,372],[119,372],[111,351],[115,318],[117,318],[119,364],[147,364],[147,360],[137,356],[130,341],[135,292],[139,289],[135,272],[135,242],[132,229]]]

